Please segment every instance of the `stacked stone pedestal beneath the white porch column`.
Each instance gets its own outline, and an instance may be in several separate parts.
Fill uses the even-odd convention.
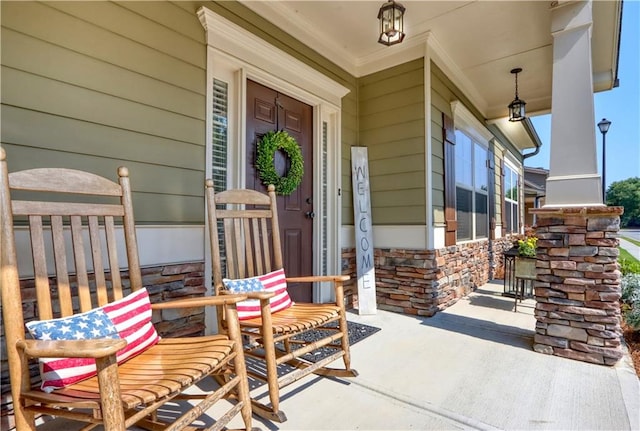
[[[534,350],[596,364],[622,357],[622,207],[540,208]]]

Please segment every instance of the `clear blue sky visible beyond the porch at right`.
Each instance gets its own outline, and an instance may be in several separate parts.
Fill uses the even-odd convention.
[[[595,124],[606,118],[611,126],[606,134],[605,181],[640,177],[640,0],[625,0],[622,9],[622,34],[618,79],[620,85],[594,94]],[[542,141],[540,152],[525,161],[529,167],[549,169],[551,115],[531,117]],[[597,126],[598,173],[602,174],[602,134]]]

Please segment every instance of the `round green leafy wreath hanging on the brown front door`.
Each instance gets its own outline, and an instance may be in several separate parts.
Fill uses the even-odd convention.
[[[291,167],[284,176],[280,176],[276,171],[274,164],[276,151],[284,151],[291,161]],[[282,130],[267,132],[258,142],[256,169],[262,184],[265,186],[273,184],[277,194],[290,195],[300,186],[304,175],[304,159],[298,142]]]

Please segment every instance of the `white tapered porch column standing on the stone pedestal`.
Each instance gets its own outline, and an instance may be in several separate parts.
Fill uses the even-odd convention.
[[[560,1],[551,11],[551,162],[545,207],[603,205],[596,152],[591,26],[591,1]]]

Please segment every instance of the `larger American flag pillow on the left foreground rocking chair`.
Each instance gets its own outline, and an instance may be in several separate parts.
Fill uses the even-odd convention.
[[[144,352],[160,339],[151,323],[151,303],[146,289],[85,313],[32,321],[26,326],[36,340],[124,338],[127,346],[117,353],[119,364]],[[51,392],[95,376],[95,360],[40,358],[40,375],[42,390]]]

